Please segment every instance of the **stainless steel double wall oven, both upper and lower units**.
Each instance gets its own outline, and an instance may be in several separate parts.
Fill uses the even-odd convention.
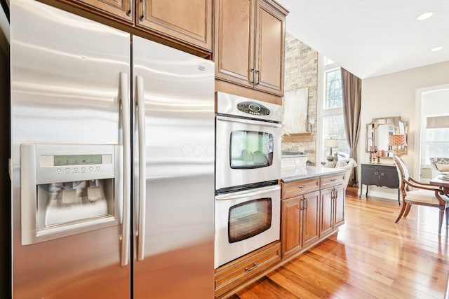
[[[279,239],[282,106],[216,92],[215,268]]]

